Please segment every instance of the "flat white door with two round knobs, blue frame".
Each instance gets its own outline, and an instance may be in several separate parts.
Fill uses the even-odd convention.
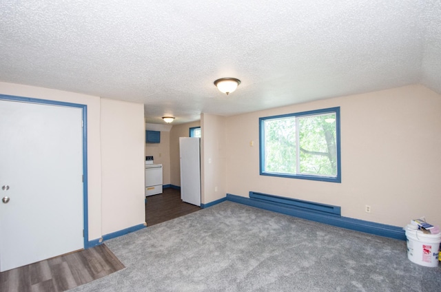
[[[81,115],[0,100],[0,271],[83,249]]]

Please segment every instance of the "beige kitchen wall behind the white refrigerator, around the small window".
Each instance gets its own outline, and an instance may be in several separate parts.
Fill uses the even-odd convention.
[[[200,127],[201,121],[173,125],[170,130],[170,184],[181,186],[181,171],[179,161],[179,137],[188,137],[189,128]]]

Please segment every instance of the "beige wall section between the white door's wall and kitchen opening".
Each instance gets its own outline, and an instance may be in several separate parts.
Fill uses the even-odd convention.
[[[101,98],[103,234],[145,223],[144,106]]]

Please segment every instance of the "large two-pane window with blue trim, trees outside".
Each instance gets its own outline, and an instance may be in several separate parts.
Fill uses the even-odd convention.
[[[341,183],[340,107],[259,118],[260,174]]]

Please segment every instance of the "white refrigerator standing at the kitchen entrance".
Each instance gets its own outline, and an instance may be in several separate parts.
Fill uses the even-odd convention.
[[[181,200],[201,206],[200,138],[179,137]]]

